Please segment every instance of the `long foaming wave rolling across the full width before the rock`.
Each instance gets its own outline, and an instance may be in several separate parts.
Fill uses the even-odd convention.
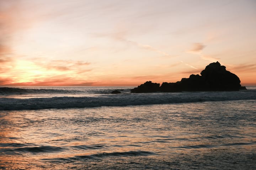
[[[180,92],[118,94],[95,97],[0,98],[0,110],[137,106],[204,101],[256,100],[256,90],[229,92]]]

